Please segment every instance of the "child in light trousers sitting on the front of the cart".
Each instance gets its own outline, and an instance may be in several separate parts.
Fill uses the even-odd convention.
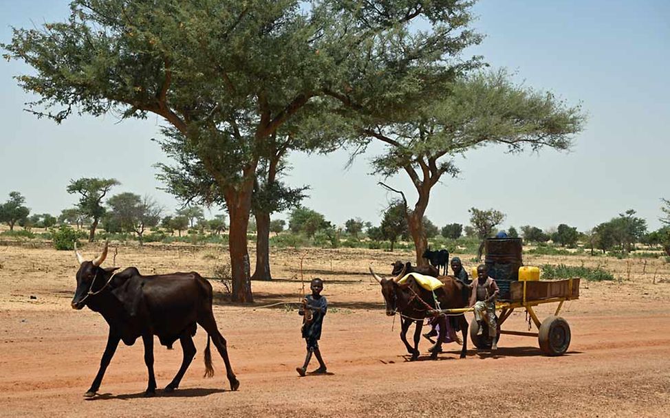
[[[477,335],[482,335],[484,324],[488,326],[488,336],[493,340],[491,350],[496,350],[497,324],[495,321],[495,300],[500,293],[495,280],[488,276],[488,267],[484,264],[477,266],[477,281],[473,282],[473,292],[470,298],[470,307],[475,313],[475,320],[479,324]]]

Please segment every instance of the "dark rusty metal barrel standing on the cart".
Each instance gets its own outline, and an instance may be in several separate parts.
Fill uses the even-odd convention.
[[[484,248],[489,276],[496,282],[519,280],[519,267],[523,265],[521,238],[487,238]]]

